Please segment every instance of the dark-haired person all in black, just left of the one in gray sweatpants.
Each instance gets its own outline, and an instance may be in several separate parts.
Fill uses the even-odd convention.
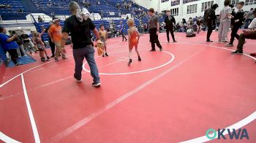
[[[218,4],[214,4],[211,6],[210,9],[206,9],[206,12],[204,13],[204,20],[205,20],[206,25],[208,26],[206,42],[212,42],[210,39],[210,36],[211,36],[211,33],[215,26],[215,20],[216,20],[215,10],[218,7],[219,7]]]

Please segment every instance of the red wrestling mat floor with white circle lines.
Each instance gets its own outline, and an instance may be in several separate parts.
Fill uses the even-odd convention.
[[[149,52],[148,34],[140,36],[142,61],[134,50],[130,66],[128,42],[109,39],[110,56],[96,56],[100,88],[91,87],[86,63],[83,82],[74,80],[70,46],[67,61],[8,68],[0,85],[0,139],[207,142],[209,128],[246,128],[249,140],[210,142],[255,142],[256,59],[246,54],[256,53],[256,41],[246,40],[246,54],[231,55],[236,46],[217,42],[217,32],[212,43],[205,42],[205,32],[175,35],[176,43],[159,35],[162,52]]]

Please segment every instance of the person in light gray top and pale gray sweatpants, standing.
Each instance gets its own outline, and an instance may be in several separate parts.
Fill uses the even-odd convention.
[[[232,9],[229,7],[230,0],[224,1],[225,7],[220,11],[220,24],[219,24],[219,42],[227,42],[226,37],[228,29],[230,28],[231,18],[233,18]]]

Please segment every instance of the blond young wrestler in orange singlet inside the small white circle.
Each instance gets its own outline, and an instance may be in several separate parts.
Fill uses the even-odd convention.
[[[137,28],[135,28],[135,21],[133,19],[127,20],[129,29],[127,30],[129,34],[129,63],[128,66],[132,63],[132,48],[135,47],[136,53],[138,55],[138,61],[141,61],[140,54],[138,52],[138,42],[140,39],[140,33]],[[138,39],[137,39],[138,36]]]

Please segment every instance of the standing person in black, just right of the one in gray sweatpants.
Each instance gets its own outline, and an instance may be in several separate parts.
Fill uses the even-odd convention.
[[[244,20],[245,20],[245,15],[244,15],[244,11],[243,8],[244,7],[244,1],[238,2],[238,4],[236,5],[236,8],[238,9],[238,12],[236,12],[233,16],[234,18],[232,18],[233,23],[231,23],[231,25],[233,25],[232,27],[232,32],[231,32],[231,38],[230,38],[230,43],[228,45],[226,45],[226,47],[233,47],[233,42],[236,39],[239,39],[239,35],[237,34],[239,28],[241,26],[244,25]]]

